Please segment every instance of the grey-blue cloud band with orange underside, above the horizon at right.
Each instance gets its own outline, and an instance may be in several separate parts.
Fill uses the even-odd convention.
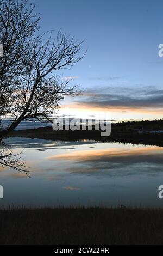
[[[92,107],[163,107],[163,90],[155,87],[99,87],[87,90],[79,103]]]

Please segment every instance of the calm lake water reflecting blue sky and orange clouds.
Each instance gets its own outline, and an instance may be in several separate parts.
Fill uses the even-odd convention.
[[[27,206],[163,206],[163,148],[95,141],[62,142],[10,138],[14,153],[24,149],[31,178],[0,169],[0,204]]]

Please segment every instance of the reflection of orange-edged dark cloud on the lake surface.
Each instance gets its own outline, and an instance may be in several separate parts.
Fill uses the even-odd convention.
[[[48,159],[68,163],[64,165],[64,171],[67,173],[121,177],[138,175],[139,172],[141,175],[159,175],[158,172],[162,172],[162,154],[162,147],[130,145],[130,147],[124,147],[123,150],[121,147],[79,150],[53,155]],[[64,187],[64,189],[74,190],[73,187]]]

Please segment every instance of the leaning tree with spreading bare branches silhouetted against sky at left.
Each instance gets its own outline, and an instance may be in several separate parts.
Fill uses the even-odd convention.
[[[62,77],[54,76],[53,72],[70,68],[82,59],[85,54],[84,53],[82,57],[79,56],[80,46],[83,41],[77,42],[74,40],[74,37],[62,33],[61,30],[54,40],[52,38],[53,32],[42,33],[39,36],[35,36],[30,31],[29,34],[26,34],[26,32],[24,32],[26,19],[23,19],[24,16],[26,17],[27,13],[27,21],[30,24],[30,20],[32,20],[34,32],[38,26],[39,19],[36,18],[36,15],[32,14],[33,7],[26,10],[27,1],[23,0],[17,0],[16,5],[14,5],[14,1],[12,0],[5,0],[3,2],[7,5],[6,10],[10,21],[8,23],[4,22],[5,24],[3,23],[3,26],[5,28],[1,28],[3,33],[0,36],[0,43],[5,42],[5,46],[4,57],[2,58],[3,65],[0,69],[0,82],[3,87],[0,99],[2,95],[2,99],[4,99],[3,102],[5,102],[5,104],[3,103],[3,112],[10,113],[12,117],[14,117],[14,120],[8,129],[1,132],[1,136],[15,129],[15,127],[25,119],[36,118],[39,121],[45,119],[51,121],[51,116],[55,113],[56,109],[59,108],[59,101],[63,99],[65,95],[79,94],[77,85],[71,86],[70,80],[64,80]],[[15,27],[15,25],[11,25],[11,30],[8,28],[9,23],[15,24],[15,20],[13,21],[15,16],[11,15],[11,13],[14,13],[14,10],[21,10],[18,16],[19,20],[23,20],[19,25],[21,31],[20,35],[14,37],[17,46],[19,44],[22,46],[21,53],[19,54],[17,52],[17,48],[17,50],[15,50],[15,57],[18,56],[18,59],[15,57],[14,59],[11,58],[11,64],[4,68],[5,62],[8,62],[12,48],[10,47],[10,38],[12,33],[16,33],[17,31],[17,26]],[[0,17],[0,19],[2,18]],[[2,24],[0,23],[0,27],[1,26]],[[5,40],[6,33],[8,40]],[[25,48],[21,38],[26,38],[26,53],[24,53]],[[10,48],[10,51],[8,48]],[[6,89],[5,93],[4,88]],[[7,100],[5,101],[6,97]],[[0,103],[0,110],[1,109]]]

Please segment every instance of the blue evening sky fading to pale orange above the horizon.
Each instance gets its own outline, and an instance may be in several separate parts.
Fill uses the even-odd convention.
[[[71,69],[83,93],[61,101],[60,114],[78,118],[111,112],[114,120],[163,118],[163,2],[161,0],[31,0],[40,31],[85,39],[85,57]],[[53,73],[55,75],[55,73]]]

